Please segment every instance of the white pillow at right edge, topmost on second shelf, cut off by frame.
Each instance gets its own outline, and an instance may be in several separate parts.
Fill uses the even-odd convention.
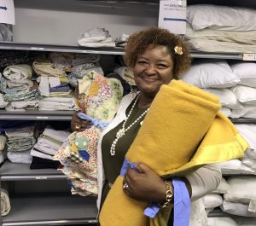
[[[238,84],[243,84],[256,88],[256,63],[239,62],[230,65],[230,67],[232,71],[236,74],[236,76],[238,76],[241,80]]]

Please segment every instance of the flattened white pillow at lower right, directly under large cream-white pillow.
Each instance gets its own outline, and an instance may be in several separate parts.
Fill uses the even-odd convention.
[[[228,212],[233,215],[243,216],[243,217],[256,217],[256,212],[249,212],[249,205],[239,203],[239,202],[223,202],[222,206],[220,206],[223,212]],[[256,219],[255,219],[256,223]]]

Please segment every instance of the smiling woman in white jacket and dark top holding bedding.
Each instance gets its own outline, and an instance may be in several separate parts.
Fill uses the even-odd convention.
[[[98,183],[102,194],[98,196],[98,205],[103,203],[111,185],[119,176],[125,154],[137,136],[148,107],[160,90],[160,86],[177,79],[178,75],[190,66],[189,50],[183,40],[165,29],[154,27],[130,36],[125,47],[125,62],[127,67],[133,69],[139,92],[123,98],[115,119],[103,131],[99,141]],[[83,130],[87,125],[86,121],[79,119],[76,114],[73,115],[72,130]],[[120,130],[122,128],[123,130]],[[106,177],[104,183],[102,168]],[[191,200],[197,200],[217,188],[221,172],[216,165],[204,165],[189,172],[182,179]],[[173,197],[166,199],[166,194],[172,194],[172,189],[171,180],[166,183],[147,165],[138,164],[137,171],[129,169],[124,177],[125,194],[136,200],[154,201],[166,205],[166,200],[172,202]],[[198,219],[196,220],[198,222]],[[172,225],[172,217],[169,225]]]

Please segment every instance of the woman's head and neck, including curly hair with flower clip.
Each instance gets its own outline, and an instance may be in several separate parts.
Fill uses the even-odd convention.
[[[170,83],[190,66],[189,50],[183,40],[154,27],[131,35],[125,48],[125,62],[133,68],[141,90],[139,106],[150,104],[160,85]]]

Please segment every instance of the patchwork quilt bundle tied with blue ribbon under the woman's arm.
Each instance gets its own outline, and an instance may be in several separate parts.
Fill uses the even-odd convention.
[[[94,71],[79,79],[79,116],[90,121],[90,128],[73,132],[55,154],[64,165],[73,194],[97,194],[97,143],[104,126],[113,119],[123,96],[118,79],[105,78]],[[86,114],[85,114],[86,113]]]

